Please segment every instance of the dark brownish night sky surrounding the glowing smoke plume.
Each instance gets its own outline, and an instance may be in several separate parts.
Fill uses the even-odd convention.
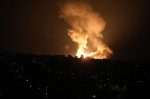
[[[36,54],[72,54],[77,44],[59,18],[60,1],[4,0],[1,2],[0,51]],[[82,0],[77,0],[82,1]],[[150,60],[150,4],[146,0],[83,0],[99,12],[107,26],[104,42],[113,58]],[[68,45],[70,48],[65,49]]]

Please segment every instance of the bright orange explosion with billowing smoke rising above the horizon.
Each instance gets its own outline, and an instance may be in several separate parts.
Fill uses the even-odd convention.
[[[81,55],[94,59],[106,59],[112,50],[107,47],[102,39],[102,31],[106,22],[98,12],[93,11],[91,6],[83,2],[67,2],[61,5],[60,18],[63,18],[71,28],[68,35],[72,41],[78,44],[76,56]],[[91,46],[87,46],[88,43]],[[93,51],[94,50],[94,51]]]

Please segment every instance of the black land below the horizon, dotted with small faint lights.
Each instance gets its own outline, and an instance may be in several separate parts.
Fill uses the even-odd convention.
[[[148,62],[0,53],[0,99],[150,99]]]

